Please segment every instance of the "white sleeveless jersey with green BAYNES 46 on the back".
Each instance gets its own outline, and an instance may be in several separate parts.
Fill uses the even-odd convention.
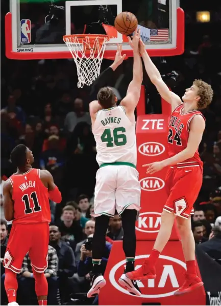
[[[122,106],[97,112],[92,132],[96,141],[96,160],[99,166],[117,161],[136,166],[135,126]]]

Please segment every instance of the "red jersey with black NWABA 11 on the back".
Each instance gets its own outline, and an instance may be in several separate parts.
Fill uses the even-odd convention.
[[[23,174],[13,174],[14,220],[17,223],[51,222],[47,188],[40,179],[40,170],[31,168]]]

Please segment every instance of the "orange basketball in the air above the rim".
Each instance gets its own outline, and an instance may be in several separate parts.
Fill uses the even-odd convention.
[[[137,27],[137,18],[130,12],[119,13],[114,21],[114,26],[120,34],[130,35]]]

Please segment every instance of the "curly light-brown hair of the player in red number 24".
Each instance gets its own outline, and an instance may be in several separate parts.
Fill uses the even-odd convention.
[[[198,108],[206,108],[212,102],[213,90],[211,85],[202,81],[202,79],[195,79],[193,81],[193,85],[199,88],[198,94],[200,96],[200,100],[198,101]]]

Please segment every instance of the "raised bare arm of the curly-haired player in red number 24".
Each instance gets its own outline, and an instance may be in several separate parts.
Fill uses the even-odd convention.
[[[182,103],[181,98],[176,95],[174,92],[170,91],[167,85],[164,83],[159,70],[152,62],[150,56],[145,50],[145,45],[143,44],[142,40],[140,39],[139,42],[140,54],[143,58],[143,63],[146,69],[146,73],[150,77],[152,83],[156,86],[159,94],[161,97],[171,104],[172,111]]]

